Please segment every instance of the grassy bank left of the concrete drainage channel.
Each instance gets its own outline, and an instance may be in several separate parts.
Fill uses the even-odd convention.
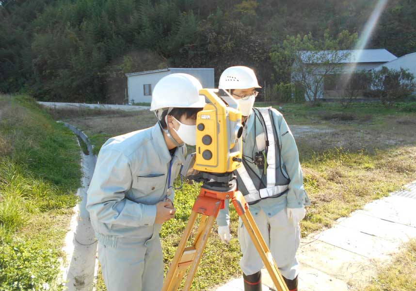
[[[33,99],[0,95],[0,290],[63,290],[80,148]]]

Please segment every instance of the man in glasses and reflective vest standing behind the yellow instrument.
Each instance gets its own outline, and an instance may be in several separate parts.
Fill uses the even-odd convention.
[[[261,88],[252,69],[229,67],[221,74],[219,88],[228,90],[239,102],[243,115],[243,166],[236,172],[238,189],[250,205],[256,224],[268,243],[288,289],[298,286],[296,251],[300,242],[299,222],[310,201],[304,186],[299,153],[283,118],[273,108],[253,107]],[[231,239],[228,204],[217,219],[223,242]],[[243,257],[244,290],[261,290],[263,262],[240,220],[238,229]]]

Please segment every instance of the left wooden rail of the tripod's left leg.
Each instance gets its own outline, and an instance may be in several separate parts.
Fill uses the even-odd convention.
[[[177,289],[180,281],[185,274],[186,268],[180,268],[179,263],[184,254],[186,243],[188,242],[189,236],[191,235],[193,224],[195,223],[198,213],[192,211],[189,217],[188,225],[186,226],[183,236],[179,242],[179,245],[176,249],[175,257],[172,260],[172,263],[169,267],[168,274],[166,275],[165,281],[163,283],[162,291],[174,291]],[[183,270],[184,269],[184,270]],[[180,277],[180,278],[179,278]]]

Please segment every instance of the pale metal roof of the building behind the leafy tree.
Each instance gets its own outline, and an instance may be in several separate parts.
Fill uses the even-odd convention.
[[[344,49],[344,50],[301,50],[301,58],[306,64],[320,64],[331,59],[332,55],[337,59],[336,63],[386,63],[397,59],[387,49]]]

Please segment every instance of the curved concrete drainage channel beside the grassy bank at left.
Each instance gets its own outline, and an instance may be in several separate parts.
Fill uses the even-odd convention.
[[[90,215],[85,208],[87,190],[94,174],[96,156],[93,154],[93,146],[87,135],[80,129],[64,123],[71,129],[88,148],[88,155],[81,151],[82,181],[77,195],[80,203],[74,207],[74,215],[71,218],[70,230],[66,234],[64,252],[66,263],[61,266],[63,280],[68,291],[91,291],[95,289],[95,280],[98,271],[96,259],[97,241],[94,229],[91,226]]]

